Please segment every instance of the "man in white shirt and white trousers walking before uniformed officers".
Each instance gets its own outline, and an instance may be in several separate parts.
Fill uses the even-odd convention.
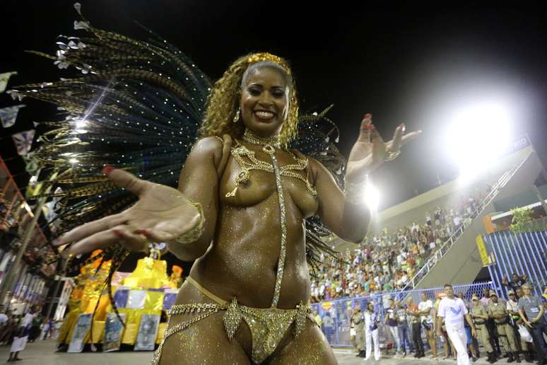
[[[475,336],[475,325],[471,316],[467,312],[464,301],[454,297],[452,285],[445,284],[445,298],[439,304],[437,316],[440,323],[437,326],[437,335],[441,335],[440,328],[442,323],[445,323],[448,337],[454,344],[454,348],[458,353],[458,365],[469,365],[469,355],[467,354],[467,335],[464,328],[464,317],[471,327],[471,335]]]

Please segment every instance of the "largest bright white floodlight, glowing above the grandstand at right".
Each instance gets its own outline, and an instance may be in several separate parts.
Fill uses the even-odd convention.
[[[510,112],[501,103],[477,103],[455,112],[447,135],[447,148],[463,177],[485,170],[507,149]]]

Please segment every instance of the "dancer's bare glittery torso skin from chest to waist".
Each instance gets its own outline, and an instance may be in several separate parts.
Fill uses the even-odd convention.
[[[261,161],[270,161],[257,146],[246,144]],[[289,153],[276,150],[279,166],[294,163]],[[247,184],[235,197],[239,166],[230,156],[220,179],[219,209],[213,243],[194,263],[190,275],[225,301],[254,308],[269,308],[274,296],[279,265],[281,221],[273,173],[252,170]],[[302,174],[305,172],[302,171]],[[310,274],[305,253],[305,218],[317,211],[317,199],[301,180],[281,179],[286,207],[286,259],[278,308],[295,308],[310,299]],[[184,288],[183,288],[184,289]],[[178,301],[184,301],[180,293]]]

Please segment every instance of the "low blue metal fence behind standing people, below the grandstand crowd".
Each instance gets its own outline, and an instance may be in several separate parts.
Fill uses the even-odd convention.
[[[471,296],[477,294],[482,296],[484,288],[495,289],[498,295],[501,294],[499,288],[495,288],[492,282],[454,285],[454,294],[461,292],[464,295],[464,301],[471,301]],[[391,293],[374,294],[370,296],[355,296],[344,299],[336,299],[334,301],[324,301],[320,303],[312,303],[313,310],[319,314],[321,318],[321,329],[327,340],[332,346],[336,347],[351,347],[350,329],[351,329],[351,313],[353,308],[360,304],[362,311],[367,308],[367,303],[374,303],[375,312],[379,313],[381,320],[378,326],[380,346],[393,346],[394,340],[389,334],[389,330],[384,330],[384,314],[389,307],[388,300],[396,299],[399,301],[406,300],[410,296],[414,303],[418,304],[423,292],[428,296],[428,299],[435,301],[435,295],[443,291],[442,286],[430,289],[415,289],[408,291],[393,291]],[[427,343],[425,341],[424,343]]]

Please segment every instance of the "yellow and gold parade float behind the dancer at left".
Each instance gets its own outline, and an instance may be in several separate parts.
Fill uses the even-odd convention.
[[[174,265],[168,277],[167,262],[160,260],[159,250],[152,250],[150,256],[138,260],[131,274],[116,272],[111,284],[118,317],[105,289],[112,262],[105,261],[101,265],[101,261],[102,253],[97,250],[75,278],[76,286],[69,299],[70,311],[64,318],[57,342],[69,345],[69,352],[81,352],[85,344],[102,344],[104,351],[105,338],[112,340],[112,336],[105,333],[106,323],[122,318],[124,325],[118,326],[119,335],[114,336],[117,347],[108,344],[107,351],[119,349],[120,344],[134,345],[135,349],[153,349],[153,345],[163,338],[167,326],[165,313],[175,301],[182,282],[182,268]],[[141,325],[143,318],[152,318],[155,325]],[[137,344],[139,329],[154,334],[155,339],[143,336],[143,341],[152,348],[140,348],[141,344]]]

